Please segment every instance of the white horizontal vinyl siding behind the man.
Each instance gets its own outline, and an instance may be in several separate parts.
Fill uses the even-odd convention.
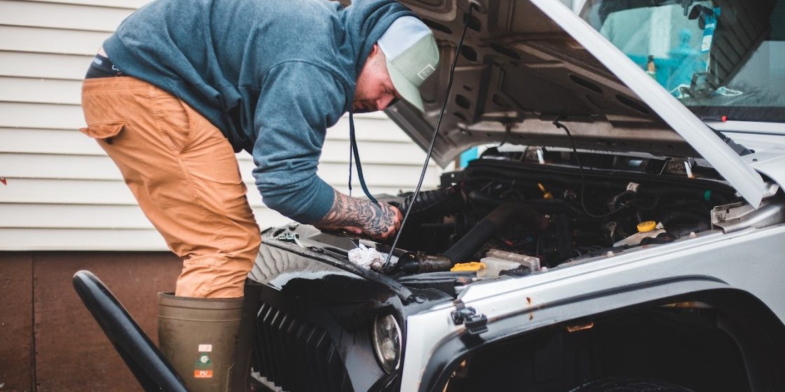
[[[93,140],[79,107],[82,77],[100,43],[144,5],[138,0],[0,0],[0,250],[165,250],[119,170]],[[355,118],[374,194],[416,185],[425,153],[384,114]],[[349,122],[327,132],[319,176],[347,192]],[[267,209],[240,172],[260,227],[288,220]],[[430,165],[425,187],[440,169]],[[361,195],[356,174],[352,194]]]

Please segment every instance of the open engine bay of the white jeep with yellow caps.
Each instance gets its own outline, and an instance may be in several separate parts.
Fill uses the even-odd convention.
[[[472,281],[695,237],[712,229],[714,207],[739,201],[693,159],[580,153],[579,160],[566,150],[490,148],[417,198],[378,197],[411,209],[389,260],[389,243],[351,234],[294,225],[268,235],[349,263],[357,263],[352,249],[372,249],[381,258],[363,267],[455,295]]]

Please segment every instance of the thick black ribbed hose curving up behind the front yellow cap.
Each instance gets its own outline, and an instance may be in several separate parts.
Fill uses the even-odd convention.
[[[455,245],[447,249],[443,256],[454,265],[469,261],[500,228],[513,221],[523,223],[532,230],[543,230],[548,225],[547,218],[528,205],[520,202],[506,203],[498,206],[474,225],[458,242],[455,242]]]

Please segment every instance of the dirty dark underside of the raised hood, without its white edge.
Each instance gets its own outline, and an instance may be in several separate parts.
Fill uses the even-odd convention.
[[[404,0],[440,44],[441,64],[422,87],[425,114],[399,104],[389,116],[421,146],[439,117],[468,4]],[[469,18],[433,158],[508,143],[698,157],[692,147],[579,42],[528,1],[484,2]],[[456,9],[462,7],[462,9]]]

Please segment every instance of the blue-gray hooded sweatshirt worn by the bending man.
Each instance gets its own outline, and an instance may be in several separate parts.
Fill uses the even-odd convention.
[[[104,42],[123,73],[184,100],[254,156],[265,204],[303,223],[334,191],[316,176],[327,128],[349,111],[392,0],[157,0]]]

